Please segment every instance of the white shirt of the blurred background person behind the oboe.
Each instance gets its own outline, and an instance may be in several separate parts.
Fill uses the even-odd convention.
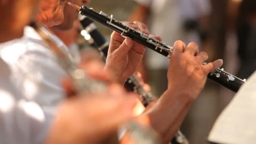
[[[209,0],[135,1],[140,5],[150,8],[148,21],[150,33],[161,36],[163,42],[171,46],[176,40],[182,40],[186,44],[191,41],[197,42],[197,37],[195,39],[191,39],[191,36],[184,31],[184,19],[197,19],[200,14],[200,16],[202,16],[210,13]],[[155,51],[148,50],[147,64],[151,69],[166,69],[169,66],[169,59],[155,53]]]

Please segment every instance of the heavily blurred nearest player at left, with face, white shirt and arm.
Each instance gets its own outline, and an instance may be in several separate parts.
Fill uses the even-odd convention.
[[[22,36],[23,28],[29,23],[32,13],[35,13],[37,3],[39,0],[0,2],[0,16],[3,20],[1,43]],[[1,58],[0,68],[0,144],[97,143],[131,118],[131,110],[136,102],[134,96],[127,97],[128,94],[116,85],[112,85],[109,89],[112,92],[105,95],[63,101],[55,118],[35,99],[23,95],[13,85],[11,69]],[[112,89],[119,89],[118,93]],[[98,105],[103,109],[94,109]]]

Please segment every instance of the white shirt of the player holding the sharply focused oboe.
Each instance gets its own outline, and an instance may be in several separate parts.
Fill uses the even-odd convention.
[[[58,45],[64,44],[59,40]],[[61,80],[66,72],[32,27],[25,27],[21,39],[0,45],[0,56],[11,67],[11,80],[27,99],[49,112],[64,99]]]

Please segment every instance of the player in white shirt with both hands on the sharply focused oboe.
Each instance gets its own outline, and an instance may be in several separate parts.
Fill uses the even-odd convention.
[[[40,4],[40,13],[36,16],[37,22],[43,23],[46,27],[60,24],[63,20],[63,7],[64,3],[59,0],[43,0]],[[139,21],[127,24],[149,33],[147,26]],[[25,28],[25,36],[21,40],[5,45],[2,50],[7,56],[8,53],[10,56],[13,50],[17,51],[14,58],[8,59],[6,55],[2,55],[2,58],[12,67],[12,75],[16,78],[16,85],[22,89],[22,93],[26,93],[45,109],[54,111],[56,105],[64,99],[64,90],[59,83],[65,73],[58,65],[56,56],[45,48],[36,32],[31,27]],[[135,72],[144,51],[144,46],[113,32],[104,71],[111,71],[113,79],[123,85]],[[207,54],[198,53],[195,43],[186,46],[183,42],[177,41],[174,44],[167,74],[168,89],[152,109],[136,117],[139,123],[144,122],[145,116],[148,117],[147,122],[160,133],[163,142],[169,142],[180,127],[189,107],[203,89],[208,73],[222,65],[221,60],[202,65],[206,59]],[[24,67],[26,69],[23,69]],[[118,89],[116,91],[119,93]]]

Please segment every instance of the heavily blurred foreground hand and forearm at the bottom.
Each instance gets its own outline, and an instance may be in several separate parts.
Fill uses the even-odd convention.
[[[46,144],[98,144],[131,119],[135,104],[136,97],[117,85],[109,93],[68,99],[56,112]]]

